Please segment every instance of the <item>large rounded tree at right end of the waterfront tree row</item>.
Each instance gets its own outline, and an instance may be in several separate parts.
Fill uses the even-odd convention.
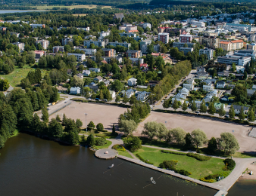
[[[217,141],[219,149],[222,149],[226,155],[234,154],[240,149],[239,142],[232,133],[221,133]]]

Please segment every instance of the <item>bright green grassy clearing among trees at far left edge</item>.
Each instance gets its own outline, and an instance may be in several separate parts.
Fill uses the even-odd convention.
[[[12,87],[18,87],[18,85],[20,84],[20,81],[23,78],[26,78],[27,73],[32,70],[35,70],[35,69],[31,68],[28,65],[23,66],[23,68],[18,68],[17,66],[15,66],[14,72],[11,72],[8,75],[1,75],[1,76],[2,76],[2,78],[7,79],[10,82]],[[42,70],[42,69],[41,69],[41,71],[42,71],[42,78],[43,78],[45,76],[46,71]]]

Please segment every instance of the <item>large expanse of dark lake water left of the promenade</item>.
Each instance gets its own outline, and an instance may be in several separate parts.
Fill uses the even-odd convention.
[[[9,139],[0,153],[0,195],[211,196],[217,192],[120,159],[100,160],[81,146],[25,133]],[[108,170],[111,164],[114,167]]]

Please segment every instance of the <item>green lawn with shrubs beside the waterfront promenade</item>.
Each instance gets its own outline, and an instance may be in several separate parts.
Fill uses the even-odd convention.
[[[194,179],[201,179],[209,174],[226,173],[226,171],[223,170],[223,160],[219,158],[211,158],[208,161],[198,161],[188,156],[165,154],[159,149],[145,147],[142,147],[142,149],[139,149],[137,152],[133,152],[134,155],[137,153],[141,155],[142,158],[154,163],[157,167],[163,161],[179,161],[176,165],[176,169],[191,172],[192,175],[189,175],[189,177]]]

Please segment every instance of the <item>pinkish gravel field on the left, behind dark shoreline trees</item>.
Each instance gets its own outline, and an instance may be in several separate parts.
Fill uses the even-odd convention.
[[[115,126],[117,125],[119,115],[123,114],[126,110],[125,108],[105,104],[73,102],[70,106],[61,109],[58,113],[63,113],[67,118],[74,120],[80,118],[83,121],[83,127],[86,127],[85,113],[87,113],[87,124],[90,121],[93,121],[95,126],[98,123],[102,123],[105,130],[112,131],[113,124]],[[52,118],[55,117],[55,115],[52,115]]]

